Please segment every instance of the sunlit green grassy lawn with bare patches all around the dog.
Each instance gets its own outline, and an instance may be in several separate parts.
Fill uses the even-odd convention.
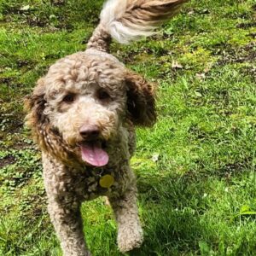
[[[23,99],[50,64],[85,49],[101,8],[0,0],[0,255],[61,255]],[[137,130],[131,160],[145,241],[130,255],[256,255],[255,38],[255,0],[193,0],[153,38],[112,45],[160,84],[158,122]],[[103,199],[82,212],[93,255],[120,255]]]

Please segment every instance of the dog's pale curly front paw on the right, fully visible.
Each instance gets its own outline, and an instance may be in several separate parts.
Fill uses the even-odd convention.
[[[121,253],[138,248],[143,243],[143,230],[140,226],[124,226],[119,228],[118,246]]]

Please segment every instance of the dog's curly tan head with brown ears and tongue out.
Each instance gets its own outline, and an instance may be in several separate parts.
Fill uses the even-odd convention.
[[[28,121],[43,149],[60,158],[58,151],[72,152],[91,166],[108,164],[108,145],[127,119],[135,125],[155,120],[152,86],[113,56],[86,52],[50,67],[29,108]]]

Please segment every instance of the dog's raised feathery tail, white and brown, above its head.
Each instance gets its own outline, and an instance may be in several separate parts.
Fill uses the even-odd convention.
[[[120,44],[154,34],[187,0],[108,0],[87,48],[108,51],[111,38]]]

